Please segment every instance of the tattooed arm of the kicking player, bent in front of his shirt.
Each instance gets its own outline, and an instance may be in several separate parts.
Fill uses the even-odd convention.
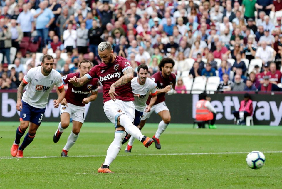
[[[115,83],[112,84],[110,90],[109,90],[109,95],[113,101],[117,100],[115,96],[118,96],[117,93],[115,93],[115,88],[125,85],[129,81],[133,79],[133,69],[128,68],[123,72],[123,75],[119,80],[117,80]]]

